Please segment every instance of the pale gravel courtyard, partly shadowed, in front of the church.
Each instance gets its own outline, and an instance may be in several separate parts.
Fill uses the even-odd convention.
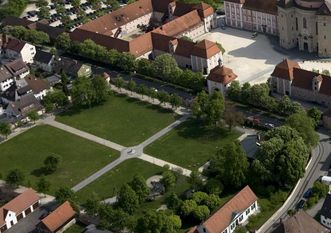
[[[314,58],[311,54],[279,48],[276,37],[264,34],[251,37],[252,32],[227,27],[225,30],[216,28],[195,40],[208,39],[222,44],[226,51],[223,55],[224,65],[233,69],[241,83],[266,82],[275,65],[284,58],[298,61]]]

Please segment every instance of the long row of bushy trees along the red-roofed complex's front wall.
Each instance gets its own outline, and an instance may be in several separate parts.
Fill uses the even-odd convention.
[[[121,53],[114,49],[107,50],[92,40],[85,40],[82,43],[71,41],[67,33],[63,33],[57,38],[56,46],[79,56],[110,64],[113,68],[124,72],[137,71],[140,74],[194,91],[201,91],[205,86],[205,80],[201,73],[180,69],[176,60],[169,54],[160,55],[154,61],[136,60],[130,53]]]

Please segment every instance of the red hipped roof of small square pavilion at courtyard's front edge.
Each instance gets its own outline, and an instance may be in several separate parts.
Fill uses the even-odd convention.
[[[222,83],[227,85],[235,80],[238,76],[233,73],[232,69],[225,66],[216,66],[210,71],[207,79],[213,82]]]

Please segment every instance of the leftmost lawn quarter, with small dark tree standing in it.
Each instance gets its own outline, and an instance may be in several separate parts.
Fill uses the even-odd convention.
[[[50,194],[63,185],[74,186],[119,156],[117,151],[50,126],[36,126],[0,144],[0,151],[1,174],[20,169],[25,184],[32,187],[36,187],[44,159],[61,156],[58,170],[45,177],[51,182]]]

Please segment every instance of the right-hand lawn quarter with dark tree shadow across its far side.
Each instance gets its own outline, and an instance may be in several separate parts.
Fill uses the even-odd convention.
[[[189,120],[154,142],[145,152],[188,169],[198,169],[227,142],[239,137],[238,132],[208,128]]]

